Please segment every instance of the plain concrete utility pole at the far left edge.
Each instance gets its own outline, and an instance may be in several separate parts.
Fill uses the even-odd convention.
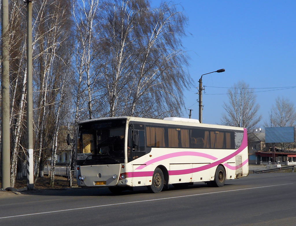
[[[8,0],[2,0],[2,188],[10,187]]]

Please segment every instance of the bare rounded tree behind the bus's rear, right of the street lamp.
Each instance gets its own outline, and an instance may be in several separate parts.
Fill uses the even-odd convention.
[[[243,81],[228,90],[229,103],[224,102],[223,105],[226,111],[221,119],[223,125],[244,127],[249,132],[255,129],[262,116],[258,114],[260,106],[256,103],[256,95],[253,92]]]

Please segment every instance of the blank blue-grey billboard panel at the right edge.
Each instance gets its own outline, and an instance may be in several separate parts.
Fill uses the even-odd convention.
[[[294,127],[265,128],[265,143],[292,143],[295,142]]]

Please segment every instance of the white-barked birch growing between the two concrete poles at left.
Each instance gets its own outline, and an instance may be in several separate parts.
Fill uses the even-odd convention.
[[[26,68],[25,68],[25,23],[22,13],[23,4],[19,1],[10,2],[9,49],[10,49],[10,87],[11,87],[11,167],[10,186],[14,187],[17,176],[17,162],[20,160],[23,147],[22,135],[25,129],[25,97],[26,97]],[[21,175],[19,174],[19,177]]]

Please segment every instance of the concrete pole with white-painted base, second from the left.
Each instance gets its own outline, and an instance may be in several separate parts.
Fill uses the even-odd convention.
[[[33,88],[32,88],[32,1],[27,0],[27,186],[34,189],[33,165]]]

